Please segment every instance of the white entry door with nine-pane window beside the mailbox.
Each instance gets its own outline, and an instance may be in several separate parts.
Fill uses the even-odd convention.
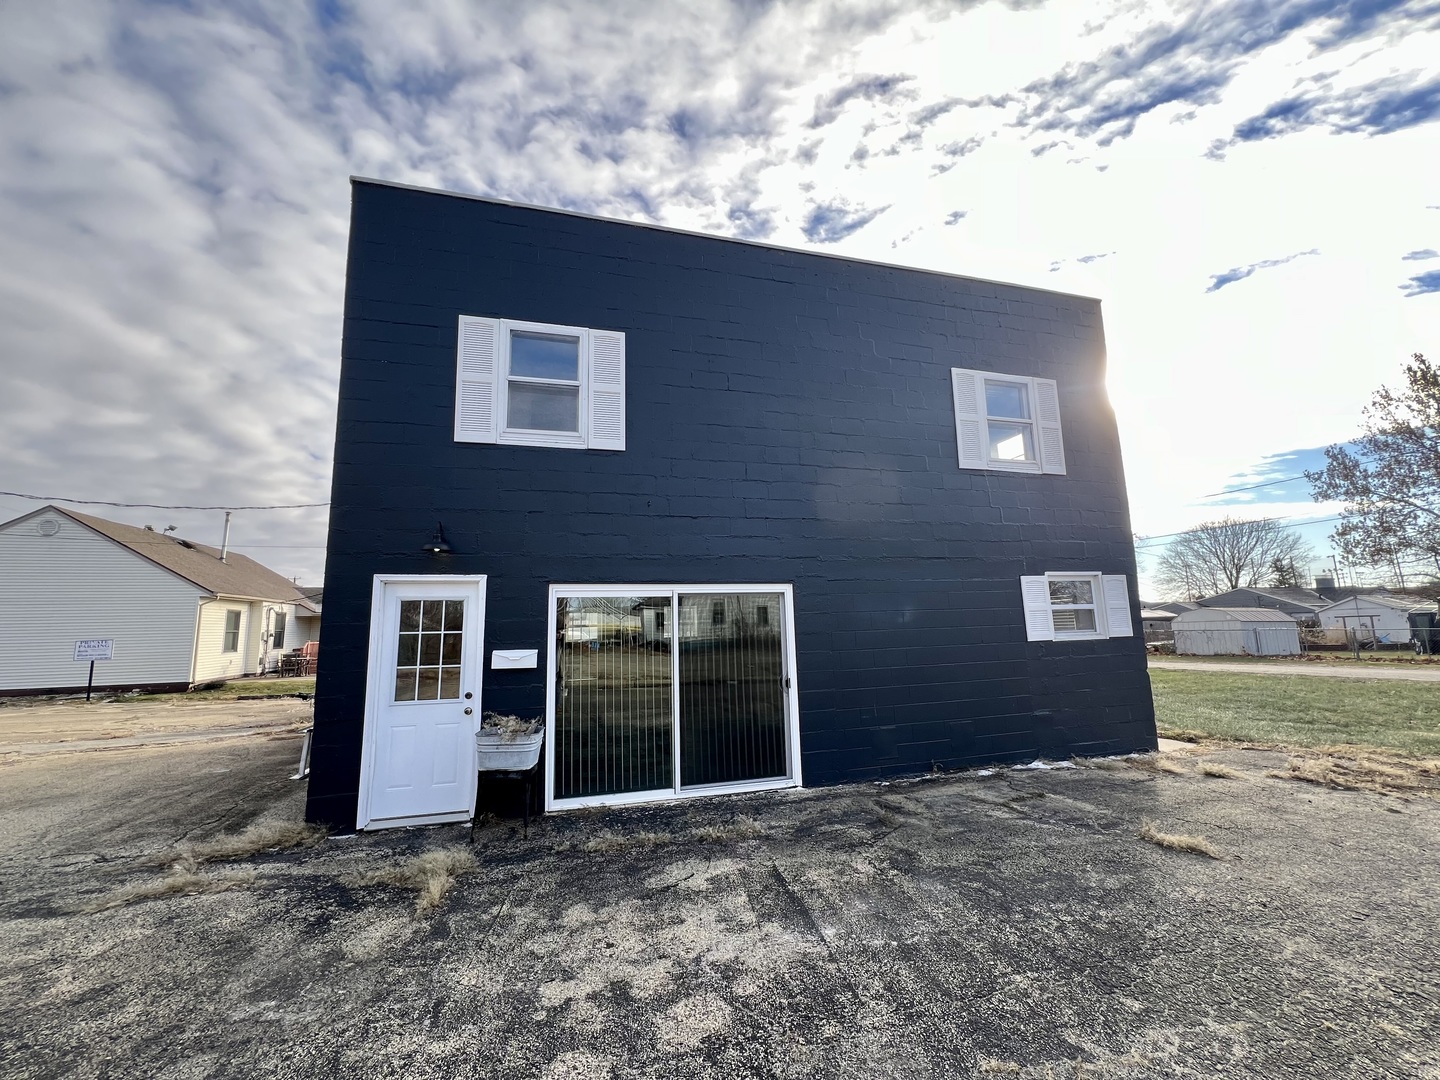
[[[484,577],[374,579],[360,828],[474,815],[484,626]]]

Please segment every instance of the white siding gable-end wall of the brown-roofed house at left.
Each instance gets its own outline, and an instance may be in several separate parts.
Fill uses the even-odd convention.
[[[42,536],[42,521],[56,531]],[[115,639],[96,685],[186,683],[202,595],[60,514],[12,521],[0,528],[0,690],[84,687],[81,638]]]

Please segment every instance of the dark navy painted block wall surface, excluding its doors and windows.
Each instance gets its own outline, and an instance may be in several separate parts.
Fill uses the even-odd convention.
[[[1099,302],[359,181],[310,815],[354,821],[372,579],[791,582],[806,783],[1152,747],[1140,636],[1027,642],[1020,577],[1135,563]],[[626,334],[624,452],[455,444],[459,314]],[[1054,379],[1067,475],[962,471],[950,369]],[[420,544],[445,523],[454,554]],[[540,714],[537,671],[482,708]]]

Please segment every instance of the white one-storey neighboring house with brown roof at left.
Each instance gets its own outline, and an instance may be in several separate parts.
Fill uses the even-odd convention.
[[[318,639],[318,616],[243,554],[59,507],[0,524],[0,694],[82,690],[82,639],[114,641],[101,688],[248,675]]]

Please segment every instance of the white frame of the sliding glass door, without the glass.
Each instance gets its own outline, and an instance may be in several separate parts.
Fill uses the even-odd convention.
[[[671,602],[671,786],[645,792],[621,792],[616,795],[589,795],[570,799],[554,796],[554,747],[556,747],[556,612],[566,596],[664,596]],[[769,776],[762,780],[740,780],[734,783],[707,783],[691,788],[680,786],[680,596],[684,593],[779,593],[783,606],[785,626],[780,645],[780,664],[785,700],[785,776]],[[687,583],[687,585],[552,585],[549,615],[546,621],[546,755],[544,755],[544,808],[546,811],[583,809],[586,806],[628,806],[642,802],[670,802],[672,799],[697,799],[706,795],[733,795],[747,791],[773,791],[776,788],[799,788],[801,783],[801,724],[799,724],[799,681],[795,677],[795,589],[791,585],[736,585],[732,582]]]

